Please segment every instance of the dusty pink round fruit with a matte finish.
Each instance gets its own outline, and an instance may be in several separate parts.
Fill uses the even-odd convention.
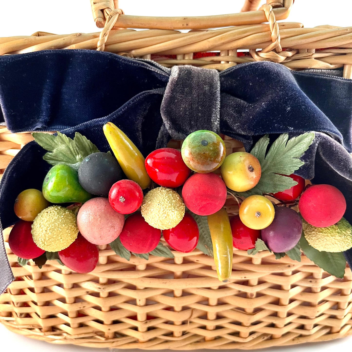
[[[125,216],[115,212],[103,197],[85,202],[77,215],[77,226],[90,243],[105,245],[117,239],[124,227]]]

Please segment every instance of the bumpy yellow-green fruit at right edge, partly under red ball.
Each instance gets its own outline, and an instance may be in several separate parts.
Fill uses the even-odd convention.
[[[352,227],[342,218],[328,227],[315,227],[303,221],[304,237],[318,251],[343,252],[352,247]]]

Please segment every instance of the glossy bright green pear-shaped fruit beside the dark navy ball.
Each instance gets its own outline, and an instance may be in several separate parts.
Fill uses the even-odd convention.
[[[78,181],[78,172],[65,164],[53,166],[46,174],[43,195],[51,203],[84,203],[92,198]]]

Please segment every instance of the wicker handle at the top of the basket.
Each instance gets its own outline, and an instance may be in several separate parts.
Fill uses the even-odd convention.
[[[90,0],[94,21],[103,28],[106,19],[114,9],[118,9],[117,0]],[[266,0],[274,9],[277,20],[286,19],[294,0]],[[125,15],[122,11],[114,28],[144,29],[207,29],[235,25],[259,24],[268,21],[263,11],[257,10],[259,0],[246,0],[241,13],[212,15],[201,17],[149,17]],[[257,8],[256,8],[257,7]],[[249,12],[247,12],[249,11]]]

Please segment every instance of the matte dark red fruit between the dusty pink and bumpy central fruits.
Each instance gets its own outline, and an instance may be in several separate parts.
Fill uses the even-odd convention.
[[[120,234],[121,243],[133,253],[149,253],[160,241],[161,230],[150,226],[141,214],[133,214],[125,221]]]

